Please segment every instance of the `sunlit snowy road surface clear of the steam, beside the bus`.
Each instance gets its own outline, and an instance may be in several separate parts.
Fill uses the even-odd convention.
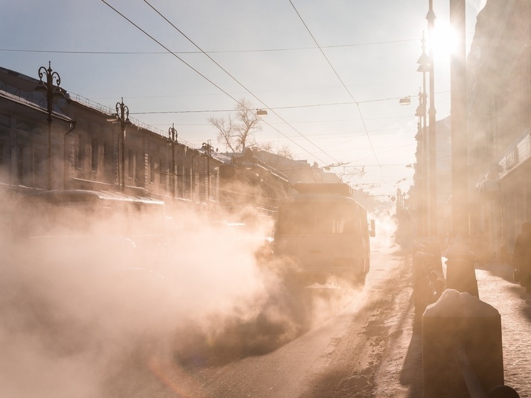
[[[159,356],[150,367],[176,397],[394,396],[386,386],[396,384],[402,363],[389,358],[389,345],[399,343],[409,321],[412,278],[411,263],[396,250],[373,247],[364,288],[332,292],[334,305],[322,322],[272,352],[199,365]],[[322,298],[322,291],[309,294]]]

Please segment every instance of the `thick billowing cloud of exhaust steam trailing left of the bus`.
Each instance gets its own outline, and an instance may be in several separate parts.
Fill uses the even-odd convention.
[[[243,231],[190,211],[168,216],[164,229],[160,219],[150,226],[144,217],[142,230],[157,235],[137,246],[135,236],[129,241],[110,234],[130,224],[125,219],[88,224],[70,214],[61,228],[47,232],[53,238],[19,241],[6,231],[2,394],[132,397],[123,379],[152,378],[146,364],[154,356],[201,367],[261,355],[349,299],[345,291],[287,286],[285,264],[260,256],[268,253],[268,220],[255,217]],[[98,234],[105,239],[94,239]]]

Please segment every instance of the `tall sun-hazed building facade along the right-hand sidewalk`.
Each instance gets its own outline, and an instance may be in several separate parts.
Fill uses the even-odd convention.
[[[490,257],[502,261],[531,220],[530,13],[529,1],[488,0],[467,61],[471,231],[485,234]]]

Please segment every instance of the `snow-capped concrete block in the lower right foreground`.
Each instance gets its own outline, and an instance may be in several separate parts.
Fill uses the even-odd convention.
[[[460,350],[485,394],[503,385],[500,313],[469,293],[446,289],[422,316],[423,397],[470,397]]]

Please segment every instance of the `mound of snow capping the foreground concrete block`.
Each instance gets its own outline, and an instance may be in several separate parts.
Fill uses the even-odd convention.
[[[470,293],[460,293],[454,289],[446,289],[436,303],[426,308],[423,316],[471,318],[495,315],[500,315],[496,308]]]

